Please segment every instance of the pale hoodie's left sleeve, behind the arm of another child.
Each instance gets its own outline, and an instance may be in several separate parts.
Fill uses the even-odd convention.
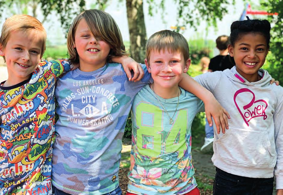
[[[216,71],[213,73],[204,73],[202,75],[193,77],[193,79],[210,92],[213,92],[220,80],[221,73],[221,71]]]

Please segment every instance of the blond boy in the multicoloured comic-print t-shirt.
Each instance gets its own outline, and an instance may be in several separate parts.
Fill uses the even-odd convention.
[[[66,60],[40,62],[46,32],[29,15],[2,27],[0,55],[8,69],[0,83],[0,194],[51,194],[54,87]],[[40,62],[40,63],[39,63]]]

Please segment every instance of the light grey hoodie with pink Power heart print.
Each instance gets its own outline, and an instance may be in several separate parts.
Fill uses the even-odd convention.
[[[229,129],[214,126],[212,161],[225,172],[250,178],[276,177],[283,189],[283,88],[270,85],[260,69],[260,81],[248,82],[234,66],[194,79],[213,93],[229,112]]]

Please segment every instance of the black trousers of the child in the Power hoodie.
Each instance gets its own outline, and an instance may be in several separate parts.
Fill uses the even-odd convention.
[[[213,195],[272,195],[273,178],[248,178],[216,168]]]

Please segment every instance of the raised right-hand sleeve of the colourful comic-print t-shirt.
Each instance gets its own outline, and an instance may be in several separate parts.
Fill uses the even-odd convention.
[[[66,59],[45,60],[40,62],[38,65],[43,68],[44,72],[52,73],[56,79],[73,68],[73,65]]]

